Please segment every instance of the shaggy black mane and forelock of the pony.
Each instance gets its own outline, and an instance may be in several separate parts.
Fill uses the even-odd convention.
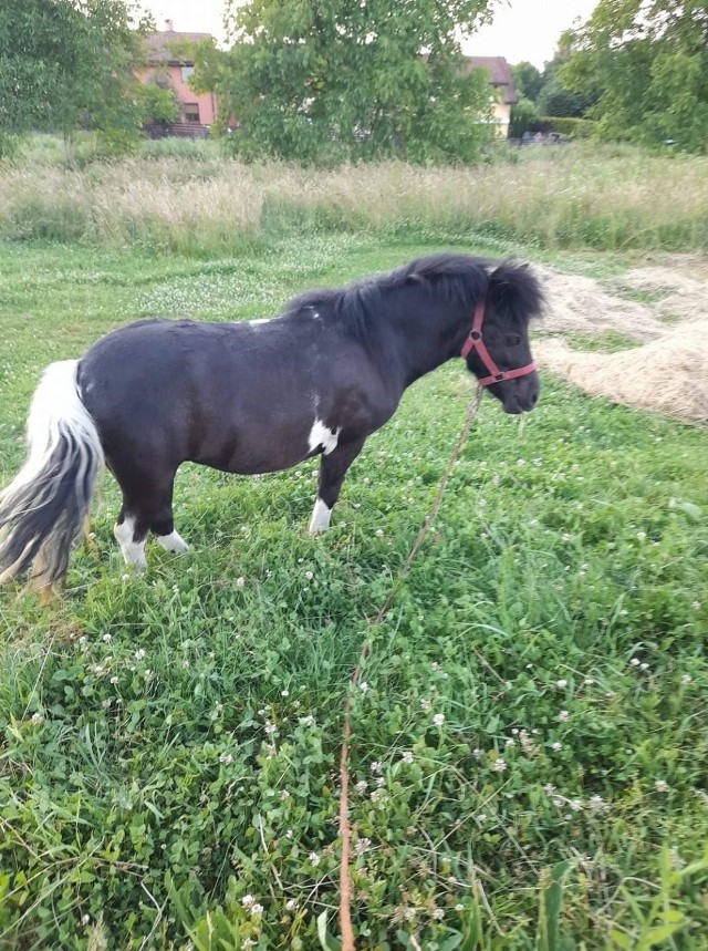
[[[287,313],[330,309],[355,335],[382,317],[392,291],[417,286],[423,292],[471,309],[487,299],[499,317],[525,327],[543,307],[538,278],[527,265],[490,261],[471,255],[438,254],[416,258],[388,273],[365,278],[344,288],[308,291],[293,298]]]

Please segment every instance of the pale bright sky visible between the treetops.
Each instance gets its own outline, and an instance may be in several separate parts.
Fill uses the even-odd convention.
[[[469,40],[464,51],[476,56],[528,60],[541,69],[550,60],[560,34],[576,18],[586,20],[597,0],[499,0],[494,21]],[[223,40],[223,0],[143,0],[157,21],[173,20],[175,30],[211,33]]]

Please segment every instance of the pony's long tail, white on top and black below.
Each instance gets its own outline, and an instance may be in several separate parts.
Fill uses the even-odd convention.
[[[52,363],[37,387],[27,424],[28,459],[0,494],[0,583],[31,565],[44,593],[61,581],[103,468],[96,424],[81,402],[77,360]]]

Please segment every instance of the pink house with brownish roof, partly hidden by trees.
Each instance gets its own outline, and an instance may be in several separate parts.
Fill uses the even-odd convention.
[[[153,33],[145,41],[147,46],[147,68],[138,73],[140,82],[169,83],[181,111],[181,122],[176,123],[174,132],[180,134],[180,126],[187,126],[181,134],[197,134],[198,128],[210,126],[217,115],[217,100],[214,93],[198,95],[188,85],[189,76],[195,71],[192,60],[180,50],[180,45],[196,43],[199,40],[211,40],[209,33],[178,33],[171,20],[167,20],[166,30]],[[194,131],[189,126],[195,126]]]

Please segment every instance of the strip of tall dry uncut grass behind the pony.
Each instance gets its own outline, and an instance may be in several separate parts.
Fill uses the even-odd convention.
[[[544,248],[701,248],[708,158],[577,144],[509,151],[473,168],[303,169],[202,151],[0,169],[3,238],[214,254],[263,234],[343,229],[477,232]]]

